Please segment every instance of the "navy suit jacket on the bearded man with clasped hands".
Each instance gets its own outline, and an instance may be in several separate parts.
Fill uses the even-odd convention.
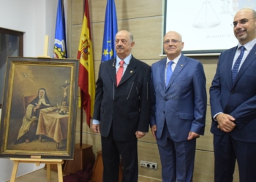
[[[222,52],[210,87],[211,115],[230,114],[236,127],[230,132],[238,141],[256,142],[256,46],[244,60],[232,85],[231,69],[237,47]],[[223,135],[212,120],[211,132]]]

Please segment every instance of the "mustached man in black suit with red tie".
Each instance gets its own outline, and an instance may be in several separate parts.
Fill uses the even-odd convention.
[[[116,58],[99,66],[92,129],[101,133],[104,182],[118,181],[120,155],[122,181],[138,181],[137,142],[148,132],[151,68],[132,56],[134,45],[132,33],[118,31]]]

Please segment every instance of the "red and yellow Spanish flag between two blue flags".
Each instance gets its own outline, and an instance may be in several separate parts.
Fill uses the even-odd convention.
[[[80,98],[86,111],[86,122],[90,127],[90,119],[94,113],[95,82],[94,82],[94,57],[91,43],[91,28],[88,0],[85,1],[82,31],[78,47],[79,79],[81,89]]]

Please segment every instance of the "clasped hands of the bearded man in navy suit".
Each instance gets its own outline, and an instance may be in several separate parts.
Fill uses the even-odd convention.
[[[218,114],[216,116],[217,122],[218,122],[218,128],[219,130],[222,130],[223,132],[231,132],[234,127],[236,127],[236,124],[234,121],[236,120],[233,118],[233,116],[230,116],[229,114]]]

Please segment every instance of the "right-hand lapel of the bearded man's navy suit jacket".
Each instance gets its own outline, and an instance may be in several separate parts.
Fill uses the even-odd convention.
[[[240,79],[241,76],[244,74],[244,71],[246,71],[246,69],[252,64],[255,58],[256,58],[256,45],[252,47],[252,50],[249,52],[249,55],[247,55],[246,59],[244,60],[244,63],[239,69],[234,85],[236,84],[238,79]]]

